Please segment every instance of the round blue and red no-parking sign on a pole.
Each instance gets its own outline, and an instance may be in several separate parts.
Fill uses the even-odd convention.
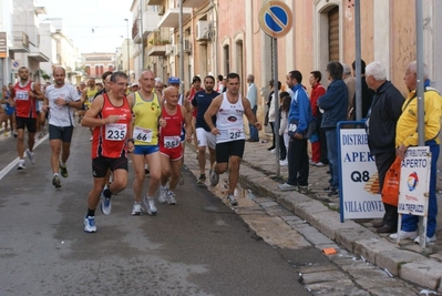
[[[259,10],[258,21],[269,37],[280,38],[291,30],[291,10],[282,1],[268,1]]]

